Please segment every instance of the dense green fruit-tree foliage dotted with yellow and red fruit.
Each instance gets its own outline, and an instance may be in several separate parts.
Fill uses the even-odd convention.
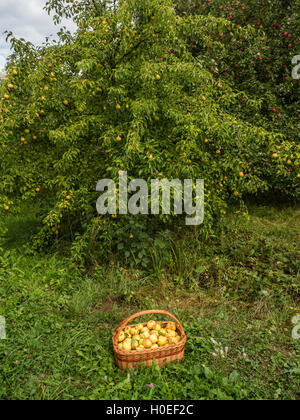
[[[98,217],[96,184],[117,181],[120,170],[148,182],[204,178],[202,238],[217,232],[231,202],[296,198],[299,82],[289,74],[299,8],[258,3],[48,1],[57,23],[72,16],[78,30],[42,47],[8,34],[1,213],[39,202],[34,247],[68,238],[82,265],[116,251],[120,238],[127,257],[147,259],[156,232],[183,225]]]

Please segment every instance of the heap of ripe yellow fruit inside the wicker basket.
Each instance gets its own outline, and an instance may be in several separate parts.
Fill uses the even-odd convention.
[[[165,323],[164,323],[165,324]],[[161,322],[149,321],[147,325],[127,326],[118,337],[118,347],[123,351],[141,351],[175,345],[181,337],[175,322],[168,322],[165,327]]]

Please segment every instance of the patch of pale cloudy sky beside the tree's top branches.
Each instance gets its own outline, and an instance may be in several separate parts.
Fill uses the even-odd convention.
[[[5,30],[26,41],[41,44],[46,36],[55,35],[60,26],[71,30],[75,28],[70,21],[55,26],[51,16],[43,10],[45,3],[46,0],[0,0],[0,69],[5,66],[10,54],[3,35]]]

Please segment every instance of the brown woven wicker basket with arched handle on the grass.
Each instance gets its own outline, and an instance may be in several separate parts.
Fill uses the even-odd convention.
[[[120,332],[125,328],[125,326],[132,321],[134,318],[137,318],[142,315],[148,315],[148,314],[162,314],[166,315],[170,318],[172,318],[176,322],[176,328],[181,336],[181,340],[177,344],[173,345],[167,345],[163,347],[159,347],[157,349],[145,349],[141,351],[133,350],[133,351],[124,351],[120,350],[118,347],[118,337]],[[167,324],[166,322],[162,322],[162,325],[165,326]],[[147,325],[147,323],[143,323],[144,326]],[[132,327],[135,327],[135,325],[131,325]],[[161,311],[161,310],[150,310],[150,311],[143,311],[138,312],[137,314],[131,315],[129,318],[125,319],[114,331],[113,333],[113,348],[115,353],[115,359],[117,362],[117,365],[120,369],[132,369],[133,367],[140,366],[142,364],[146,366],[151,366],[153,363],[153,360],[156,360],[156,363],[159,366],[163,366],[166,363],[174,362],[174,361],[180,361],[184,356],[184,347],[186,343],[186,335],[184,333],[184,330],[178,321],[177,318],[175,318],[172,314],[170,314],[167,311]]]

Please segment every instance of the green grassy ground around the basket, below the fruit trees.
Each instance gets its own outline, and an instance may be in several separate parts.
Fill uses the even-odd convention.
[[[62,253],[30,253],[34,217],[11,218],[0,255],[0,398],[297,399],[299,220],[299,208],[253,207],[228,216],[214,241],[190,235],[157,251],[147,271],[116,257],[83,275]],[[153,308],[182,321],[184,361],[119,370],[112,331]]]

